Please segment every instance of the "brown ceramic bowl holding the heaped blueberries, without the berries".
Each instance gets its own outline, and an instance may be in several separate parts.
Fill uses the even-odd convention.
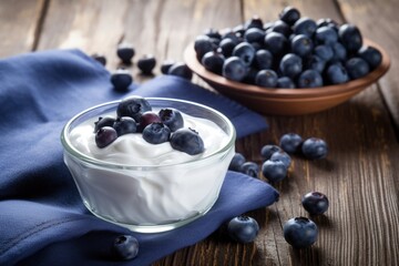
[[[372,45],[382,53],[382,62],[377,69],[358,80],[313,89],[267,89],[227,80],[201,64],[193,43],[184,51],[184,59],[188,68],[212,88],[255,111],[264,114],[300,115],[324,111],[349,100],[388,71],[390,60],[387,52],[369,40],[365,40],[365,44]]]

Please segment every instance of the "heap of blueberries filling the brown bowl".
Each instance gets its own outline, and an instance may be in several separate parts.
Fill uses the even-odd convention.
[[[194,49],[206,70],[264,88],[341,84],[367,75],[382,59],[378,49],[364,44],[356,25],[315,21],[294,7],[273,22],[254,16],[223,32],[207,29]]]

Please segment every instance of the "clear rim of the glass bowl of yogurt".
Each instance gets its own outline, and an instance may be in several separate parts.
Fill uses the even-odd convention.
[[[71,126],[72,124],[79,120],[80,117],[82,117],[83,115],[85,115],[86,113],[94,111],[96,109],[105,109],[106,106],[109,106],[110,109],[112,108],[116,110],[117,103],[120,103],[122,100],[116,100],[116,101],[110,101],[110,102],[105,102],[105,103],[101,103],[101,104],[96,104],[94,106],[91,106],[89,109],[85,109],[81,112],[79,112],[78,114],[75,114],[74,116],[72,116],[66,124],[63,126],[62,131],[61,131],[61,143],[64,147],[64,153],[66,152],[68,154],[70,154],[71,156],[73,156],[73,158],[78,158],[79,161],[82,161],[84,163],[89,163],[91,165],[96,165],[100,167],[106,167],[106,168],[115,168],[115,170],[140,170],[140,171],[151,171],[154,168],[168,168],[168,167],[186,167],[188,165],[192,164],[201,164],[201,163],[206,163],[208,160],[212,160],[213,157],[226,153],[228,152],[228,150],[234,145],[235,145],[235,141],[236,141],[236,131],[235,127],[233,125],[233,123],[231,122],[229,119],[227,119],[226,115],[224,115],[223,113],[221,113],[219,111],[212,109],[207,105],[201,104],[201,103],[196,103],[196,102],[192,102],[192,101],[186,101],[186,100],[180,100],[180,99],[172,99],[172,98],[144,98],[147,101],[173,101],[173,102],[178,102],[178,103],[184,103],[184,104],[190,104],[190,105],[194,105],[196,108],[202,108],[205,109],[206,111],[209,111],[214,114],[216,114],[218,117],[221,117],[227,125],[227,127],[229,129],[229,134],[227,135],[228,141],[226,142],[226,144],[222,147],[219,147],[218,150],[214,151],[211,154],[207,154],[206,156],[203,157],[193,157],[193,160],[187,161],[187,162],[183,162],[183,163],[170,163],[170,164],[161,164],[161,165],[133,165],[133,164],[119,164],[119,163],[112,163],[112,162],[106,162],[103,160],[98,160],[94,158],[92,156],[89,156],[82,152],[80,152],[76,147],[74,147],[74,145],[71,143],[71,140],[69,139],[69,133],[71,132]],[[91,117],[88,117],[91,119]]]

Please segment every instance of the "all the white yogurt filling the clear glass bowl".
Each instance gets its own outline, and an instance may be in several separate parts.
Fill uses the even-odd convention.
[[[93,133],[96,117],[73,129],[72,145],[88,156],[124,165],[152,166],[101,167],[65,154],[65,163],[89,209],[130,227],[178,223],[211,208],[234,155],[234,144],[227,152],[197,161],[226,146],[229,137],[212,121],[186,114],[183,117],[184,127],[197,131],[203,139],[204,153],[192,156],[174,150],[168,142],[150,144],[141,133],[122,135],[99,149]],[[182,164],[191,161],[197,162]]]

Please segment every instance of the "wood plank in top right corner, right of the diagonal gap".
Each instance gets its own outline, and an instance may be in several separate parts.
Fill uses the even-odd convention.
[[[378,42],[387,50],[391,59],[391,69],[379,81],[385,102],[390,111],[399,137],[399,60],[397,29],[399,27],[398,1],[381,0],[339,0],[337,1],[342,16],[348,22],[355,23],[361,30],[364,37]]]

